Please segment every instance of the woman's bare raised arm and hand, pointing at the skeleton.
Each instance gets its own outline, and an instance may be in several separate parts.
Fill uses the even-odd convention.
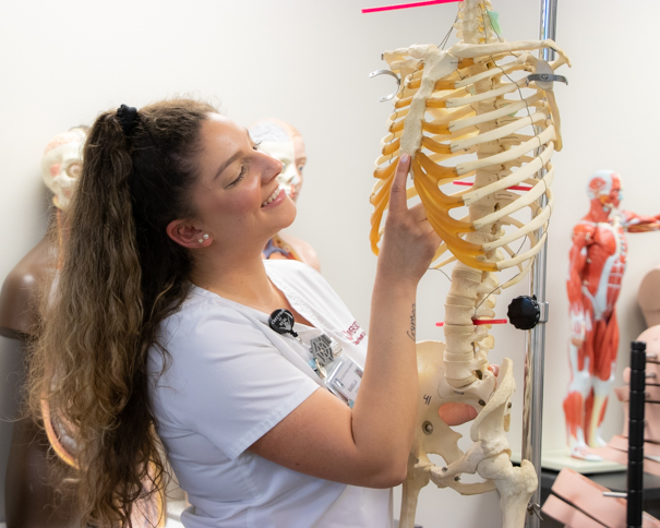
[[[352,410],[316,391],[250,451],[314,477],[389,488],[406,477],[417,412],[416,292],[440,238],[423,207],[408,208],[408,156],[391,191],[371,303],[369,353]]]

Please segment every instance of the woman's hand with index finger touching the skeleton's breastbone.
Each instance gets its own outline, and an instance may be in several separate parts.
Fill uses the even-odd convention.
[[[409,168],[410,157],[404,154],[389,192],[379,273],[385,274],[387,279],[409,279],[417,285],[429,268],[441,239],[429,224],[422,204],[408,208],[406,177]]]

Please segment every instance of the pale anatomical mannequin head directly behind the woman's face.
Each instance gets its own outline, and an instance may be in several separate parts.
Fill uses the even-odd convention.
[[[302,135],[293,127],[277,119],[262,119],[250,127],[252,141],[259,149],[284,164],[277,177],[279,184],[293,201],[302,188],[302,171],[307,152]]]

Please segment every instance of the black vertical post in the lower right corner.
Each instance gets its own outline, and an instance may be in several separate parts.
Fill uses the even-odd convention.
[[[644,407],[646,343],[631,344],[631,398],[628,403],[627,526],[641,528],[644,511]]]

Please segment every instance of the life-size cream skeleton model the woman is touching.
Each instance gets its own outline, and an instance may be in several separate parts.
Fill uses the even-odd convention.
[[[413,526],[418,494],[429,480],[461,494],[496,488],[505,528],[523,526],[537,487],[529,461],[519,468],[511,464],[505,431],[515,389],[512,362],[502,362],[495,380],[488,369],[494,339],[490,326],[480,323],[495,314],[492,296],[525,276],[545,241],[545,232],[535,233],[550,217],[550,159],[561,148],[552,82],[563,80],[554,70],[568,59],[552,40],[504,41],[495,20],[490,1],[465,0],[455,25],[460,41],[449,50],[429,45],[384,53],[403,86],[375,164],[372,249],[377,253],[393,175],[406,153],[415,183],[408,197],[421,199],[443,239],[436,260],[451,253],[435,267],[458,261],[445,304],[446,345],[418,344],[419,410],[404,483],[403,528]],[[554,49],[559,59],[549,64],[535,58],[532,51],[541,48]],[[472,187],[452,193],[445,185],[453,183]],[[542,195],[545,205],[540,205]],[[453,211],[460,207],[463,214]],[[530,211],[531,220],[512,216],[520,211]],[[529,248],[520,252],[526,241]],[[515,267],[517,275],[500,286],[497,272]],[[439,417],[446,403],[468,404],[479,412],[470,430],[473,444],[465,453],[457,446],[460,434]],[[434,466],[429,454],[442,456],[445,467]],[[464,472],[485,480],[461,483]]]

